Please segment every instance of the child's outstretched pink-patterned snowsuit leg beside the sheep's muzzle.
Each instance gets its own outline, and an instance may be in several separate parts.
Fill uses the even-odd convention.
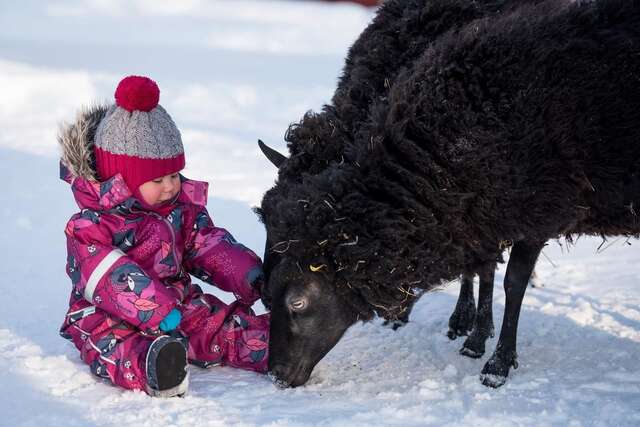
[[[189,337],[192,362],[267,372],[269,314],[256,316],[248,307],[237,302],[226,305],[208,294],[183,308],[180,329]]]

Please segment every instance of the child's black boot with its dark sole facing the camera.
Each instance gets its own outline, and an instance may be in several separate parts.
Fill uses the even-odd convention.
[[[187,350],[181,341],[163,335],[147,353],[147,393],[151,396],[182,396],[189,386]]]

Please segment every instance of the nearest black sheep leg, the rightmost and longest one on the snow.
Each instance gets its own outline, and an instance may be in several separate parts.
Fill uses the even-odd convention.
[[[484,365],[480,380],[489,387],[500,387],[507,380],[509,369],[518,368],[516,337],[522,298],[544,243],[517,242],[511,250],[504,278],[506,303],[500,338],[491,359]]]

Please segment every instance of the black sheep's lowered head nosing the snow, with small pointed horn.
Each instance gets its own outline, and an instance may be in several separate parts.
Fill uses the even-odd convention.
[[[286,157],[261,144],[269,160],[281,166]],[[267,231],[263,301],[271,309],[269,370],[280,386],[299,386],[315,365],[358,319],[337,292],[334,266],[322,245],[296,239],[309,230],[300,218],[309,214],[295,190],[280,183],[269,190],[258,210]]]

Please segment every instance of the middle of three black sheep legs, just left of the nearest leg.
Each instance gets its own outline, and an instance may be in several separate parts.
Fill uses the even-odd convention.
[[[494,262],[485,264],[478,272],[480,290],[478,293],[478,311],[471,335],[464,342],[460,354],[478,358],[484,354],[484,343],[493,337],[493,279],[496,271]]]

